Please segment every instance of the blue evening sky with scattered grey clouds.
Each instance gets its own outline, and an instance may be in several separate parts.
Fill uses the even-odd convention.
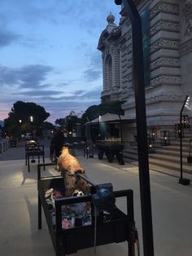
[[[100,104],[98,39],[114,0],[1,0],[0,120],[17,100],[40,104],[54,122]]]

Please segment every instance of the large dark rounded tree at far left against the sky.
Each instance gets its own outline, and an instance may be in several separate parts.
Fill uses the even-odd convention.
[[[12,137],[19,137],[22,132],[32,132],[39,129],[43,121],[50,116],[45,108],[33,102],[17,101],[13,104],[11,112],[4,120],[4,130]]]

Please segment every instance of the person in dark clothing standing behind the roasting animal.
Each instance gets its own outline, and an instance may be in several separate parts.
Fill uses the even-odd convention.
[[[55,125],[55,134],[50,141],[50,158],[55,161],[59,157],[64,143],[64,135],[61,126]]]

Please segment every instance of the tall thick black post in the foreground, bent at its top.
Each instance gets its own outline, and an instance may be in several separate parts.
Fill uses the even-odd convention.
[[[142,237],[144,256],[154,256],[153,228],[151,216],[151,188],[146,133],[146,102],[144,85],[144,64],[142,46],[142,20],[133,0],[115,0],[124,3],[125,11],[132,24],[133,38],[133,79],[135,89],[135,107],[137,121],[137,150],[142,208]]]

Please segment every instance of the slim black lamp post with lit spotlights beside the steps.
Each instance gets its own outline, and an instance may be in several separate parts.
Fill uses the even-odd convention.
[[[190,185],[190,179],[184,179],[183,178],[183,159],[182,159],[182,112],[183,109],[185,108],[186,104],[188,104],[190,97],[189,95],[186,95],[184,103],[182,105],[181,108],[181,112],[180,112],[180,179],[179,179],[179,183],[181,183],[182,185]]]

